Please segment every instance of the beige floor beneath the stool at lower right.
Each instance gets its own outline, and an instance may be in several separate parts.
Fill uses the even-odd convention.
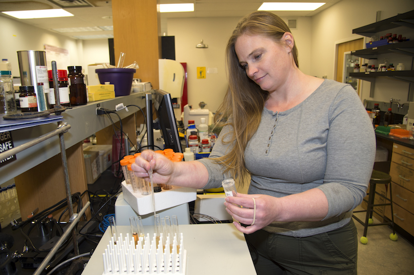
[[[361,208],[362,210],[362,208]],[[365,213],[357,213],[364,219]],[[399,236],[392,241],[388,226],[368,227],[367,244],[359,242],[363,226],[355,221],[358,233],[358,275],[412,275],[414,274],[414,246]],[[374,222],[378,222],[374,218]]]

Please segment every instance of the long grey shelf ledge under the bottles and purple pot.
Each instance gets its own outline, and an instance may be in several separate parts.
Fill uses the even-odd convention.
[[[147,91],[151,92],[151,91]],[[65,133],[64,142],[66,148],[69,148],[96,132],[111,126],[111,120],[106,115],[97,115],[96,108],[102,107],[115,110],[119,103],[126,105],[138,105],[145,107],[145,92],[132,93],[126,96],[118,96],[112,99],[90,102],[86,105],[75,106],[67,109],[61,115],[64,122],[71,126],[70,131]],[[139,111],[138,108],[129,107],[128,112],[123,109],[117,112],[121,119]],[[118,121],[118,116],[111,116],[114,122]],[[11,131],[14,147],[29,142],[37,137],[56,130],[58,124],[50,123],[40,126],[34,126],[26,129]],[[42,141],[24,151],[16,154],[16,161],[0,167],[0,184],[32,169],[38,164],[58,155],[60,153],[59,137],[52,137]]]

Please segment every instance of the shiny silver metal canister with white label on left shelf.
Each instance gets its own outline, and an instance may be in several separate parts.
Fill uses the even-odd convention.
[[[41,50],[20,50],[17,51],[17,58],[19,61],[21,85],[34,87],[38,111],[49,109],[47,99],[49,76],[46,52]]]

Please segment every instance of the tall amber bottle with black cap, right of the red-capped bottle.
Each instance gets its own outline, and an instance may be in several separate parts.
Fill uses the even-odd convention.
[[[86,85],[83,81],[85,77],[82,74],[81,66],[67,67],[69,74],[69,91],[70,91],[70,105],[78,106],[85,105],[87,102]]]

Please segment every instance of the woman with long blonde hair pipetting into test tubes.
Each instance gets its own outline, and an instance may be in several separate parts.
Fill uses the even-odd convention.
[[[145,151],[132,169],[206,189],[250,176],[249,194],[225,205],[257,274],[356,274],[352,210],[375,157],[360,99],[349,85],[303,74],[292,33],[271,12],[242,19],[226,53],[229,91],[216,117],[224,127],[210,158],[172,163]]]

